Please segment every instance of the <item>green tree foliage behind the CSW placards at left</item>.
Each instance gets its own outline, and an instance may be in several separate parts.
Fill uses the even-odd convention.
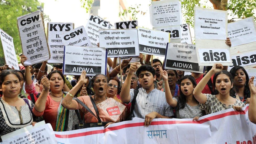
[[[17,17],[34,12],[42,5],[38,0],[0,0],[0,28],[13,37],[15,52],[22,52]],[[46,20],[50,20],[46,15]],[[0,42],[1,43],[1,42]],[[3,47],[0,44],[0,66],[4,65]]]

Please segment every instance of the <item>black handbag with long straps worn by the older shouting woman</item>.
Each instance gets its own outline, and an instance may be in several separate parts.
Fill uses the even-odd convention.
[[[91,102],[93,104],[94,110],[96,111],[97,116],[92,112],[92,110],[90,110],[88,108],[88,106],[86,106],[81,100],[79,100],[78,98],[74,98],[74,100],[76,100],[79,104],[81,104],[86,110],[88,110],[93,116],[95,116],[98,119],[98,122],[92,122],[92,123],[84,123],[84,116],[83,116],[83,120],[80,116],[79,110],[75,110],[76,111],[76,115],[78,117],[79,120],[79,124],[75,124],[75,130],[78,129],[84,129],[84,128],[89,128],[89,127],[100,127],[100,126],[105,126],[107,123],[109,122],[102,122],[101,119],[99,118],[99,111],[98,108],[96,107],[96,104],[94,103],[94,100],[92,99],[92,97],[90,96]]]

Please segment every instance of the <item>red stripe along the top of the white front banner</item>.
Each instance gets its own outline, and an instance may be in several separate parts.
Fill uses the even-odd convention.
[[[246,114],[248,109],[249,109],[249,106],[247,106],[246,109],[243,110],[243,111],[229,111],[227,113],[210,116],[210,117],[198,120],[198,121],[152,121],[151,125],[202,124],[202,123],[207,122],[207,121],[224,118],[224,117],[230,116],[230,115]],[[58,138],[72,138],[72,137],[87,136],[87,135],[93,135],[93,134],[102,134],[102,133],[105,133],[107,131],[114,131],[114,130],[119,130],[119,129],[123,129],[123,128],[127,128],[127,127],[136,127],[136,126],[144,126],[144,122],[123,124],[123,125],[119,125],[119,126],[109,127],[109,128],[104,129],[104,130],[87,131],[87,132],[81,132],[81,133],[77,133],[77,134],[69,134],[69,135],[57,135],[57,134],[55,134],[55,136],[58,137]]]

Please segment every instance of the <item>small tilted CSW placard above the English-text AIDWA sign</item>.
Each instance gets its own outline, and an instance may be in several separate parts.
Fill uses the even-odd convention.
[[[61,38],[64,46],[92,46],[84,26],[61,34]]]

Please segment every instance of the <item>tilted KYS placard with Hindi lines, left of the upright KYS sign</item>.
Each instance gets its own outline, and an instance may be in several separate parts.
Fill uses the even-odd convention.
[[[90,15],[85,27],[88,33],[89,39],[92,43],[92,46],[95,46],[95,47],[97,47],[97,43],[99,42],[99,29],[112,29],[112,28],[113,28],[113,25],[111,25],[108,21],[100,18],[98,15],[96,16]]]

